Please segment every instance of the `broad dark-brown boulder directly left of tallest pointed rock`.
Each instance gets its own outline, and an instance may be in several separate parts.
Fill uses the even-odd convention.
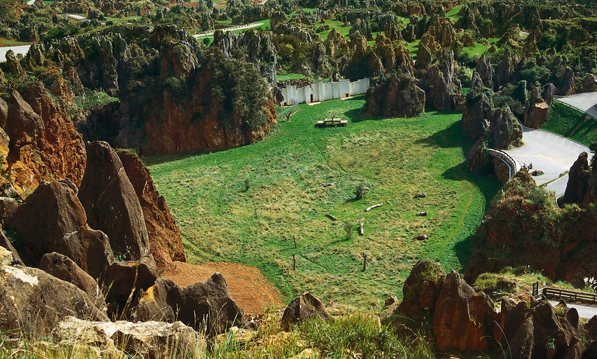
[[[60,182],[45,182],[16,210],[12,225],[25,264],[37,267],[44,254],[62,253],[97,278],[114,257],[106,234],[92,230],[73,191]]]

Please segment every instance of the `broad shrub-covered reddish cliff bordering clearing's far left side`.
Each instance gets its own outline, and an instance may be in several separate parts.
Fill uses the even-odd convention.
[[[172,25],[116,25],[37,47],[32,60],[14,61],[21,68],[10,76],[45,66],[54,74],[45,86],[68,84],[62,92],[71,94],[71,113],[87,140],[145,156],[253,143],[275,124],[272,92],[262,77],[274,78],[275,49],[255,32],[222,36],[218,45],[205,49]],[[240,47],[255,63],[234,59]],[[56,121],[56,108],[43,111]]]

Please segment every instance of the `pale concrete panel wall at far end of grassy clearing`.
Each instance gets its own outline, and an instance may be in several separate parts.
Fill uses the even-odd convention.
[[[369,79],[364,78],[355,82],[341,79],[340,82],[318,82],[311,86],[299,87],[286,86],[280,89],[284,100],[283,106],[292,106],[297,103],[311,103],[340,99],[367,92]]]

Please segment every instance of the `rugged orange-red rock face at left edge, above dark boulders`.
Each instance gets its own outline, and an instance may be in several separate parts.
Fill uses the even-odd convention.
[[[6,130],[0,141],[2,170],[20,194],[32,192],[44,180],[81,183],[86,162],[82,136],[43,87],[28,88],[23,97],[14,91],[7,112],[5,124],[0,124]],[[0,121],[3,118],[0,113]]]

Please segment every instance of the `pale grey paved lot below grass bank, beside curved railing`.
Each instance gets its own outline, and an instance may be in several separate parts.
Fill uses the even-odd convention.
[[[533,179],[537,184],[548,184],[547,189],[553,190],[556,197],[564,194],[568,176],[560,177],[561,173],[570,171],[570,167],[578,155],[589,148],[567,138],[541,131],[540,129],[524,129],[521,147],[505,150],[520,164],[532,164],[532,170],[541,170],[543,175]],[[559,180],[558,180],[559,178]]]

